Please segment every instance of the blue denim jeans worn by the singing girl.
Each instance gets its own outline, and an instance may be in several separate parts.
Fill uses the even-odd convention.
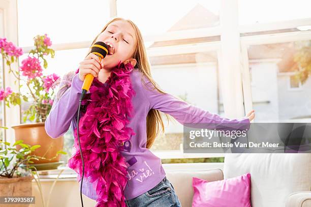
[[[129,207],[181,207],[174,187],[166,177],[151,190],[127,200],[126,203]]]

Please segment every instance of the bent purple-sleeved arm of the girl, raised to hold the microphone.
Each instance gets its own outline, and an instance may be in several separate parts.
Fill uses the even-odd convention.
[[[63,80],[66,80],[66,77]],[[75,74],[71,87],[61,97],[54,99],[52,109],[45,121],[45,130],[50,137],[57,138],[69,129],[70,123],[78,111],[82,84],[83,81],[79,79],[79,74]],[[64,86],[66,87],[66,82],[61,81],[59,88]]]

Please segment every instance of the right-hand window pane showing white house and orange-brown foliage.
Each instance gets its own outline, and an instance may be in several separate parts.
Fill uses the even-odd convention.
[[[311,41],[248,48],[256,122],[310,121],[311,80],[300,78],[300,85],[293,79],[309,67],[310,50]]]

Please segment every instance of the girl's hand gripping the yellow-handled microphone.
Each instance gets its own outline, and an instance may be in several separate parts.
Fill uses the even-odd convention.
[[[97,77],[100,70],[101,65],[99,57],[93,53],[89,53],[85,59],[79,63],[79,79],[84,81],[87,74],[92,74],[94,77]]]

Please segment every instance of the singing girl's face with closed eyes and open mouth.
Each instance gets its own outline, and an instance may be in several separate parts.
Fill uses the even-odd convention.
[[[135,30],[129,22],[123,20],[111,22],[95,42],[98,41],[104,42],[108,46],[108,54],[101,61],[102,68],[105,70],[111,70],[120,60],[121,62],[128,62],[134,59],[132,57],[137,40]]]

